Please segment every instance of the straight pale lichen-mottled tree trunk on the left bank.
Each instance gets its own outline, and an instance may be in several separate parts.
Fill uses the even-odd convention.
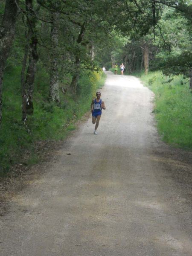
[[[59,13],[52,12],[51,24],[51,67],[50,67],[50,92],[52,102],[59,102],[59,73],[58,73],[58,19]]]

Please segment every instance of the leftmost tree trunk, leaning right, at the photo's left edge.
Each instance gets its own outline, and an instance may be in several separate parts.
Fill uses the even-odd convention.
[[[15,35],[16,16],[16,0],[6,0],[3,20],[0,28],[0,123],[2,120],[3,70]]]

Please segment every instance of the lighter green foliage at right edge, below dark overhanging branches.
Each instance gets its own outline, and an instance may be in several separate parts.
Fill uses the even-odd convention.
[[[161,47],[156,56],[156,69],[168,74],[185,74],[189,76],[192,67],[191,24],[174,10],[166,8],[159,22],[163,40],[157,31],[156,45]]]

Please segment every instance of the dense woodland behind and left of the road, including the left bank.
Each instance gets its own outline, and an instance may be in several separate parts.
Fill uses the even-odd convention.
[[[73,129],[102,66],[162,70],[192,89],[192,0],[1,0],[0,23],[1,173]]]

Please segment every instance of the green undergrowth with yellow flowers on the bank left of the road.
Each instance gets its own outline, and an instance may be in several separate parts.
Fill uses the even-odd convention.
[[[76,128],[76,121],[90,108],[97,88],[105,83],[106,75],[96,71],[81,71],[76,96],[70,93],[72,77],[60,81],[60,103],[49,102],[49,76],[39,64],[35,80],[34,113],[26,125],[22,119],[20,86],[21,67],[9,67],[4,75],[3,121],[0,133],[0,177],[9,173],[15,163],[37,163],[38,141],[63,140]]]

